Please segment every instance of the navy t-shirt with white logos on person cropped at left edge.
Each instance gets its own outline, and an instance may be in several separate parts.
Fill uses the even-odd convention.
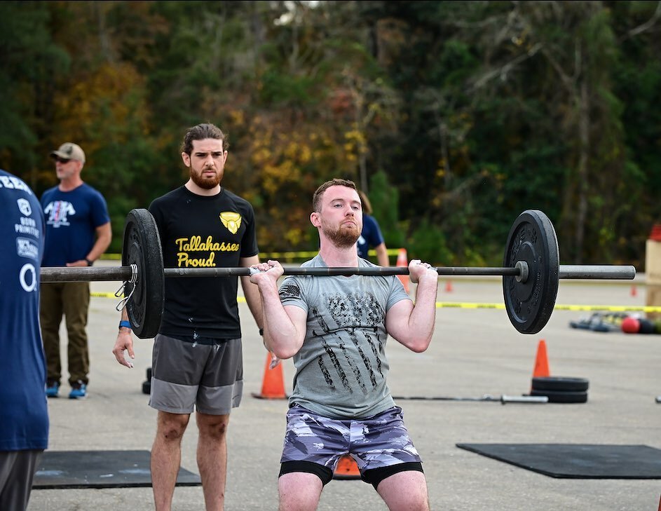
[[[43,214],[29,186],[0,170],[0,451],[46,449],[46,363],[39,329]]]

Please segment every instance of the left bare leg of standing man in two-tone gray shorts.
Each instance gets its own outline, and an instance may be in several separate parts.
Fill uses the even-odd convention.
[[[158,411],[156,438],[151,447],[151,487],[156,511],[170,511],[182,463],[182,437],[190,415]]]

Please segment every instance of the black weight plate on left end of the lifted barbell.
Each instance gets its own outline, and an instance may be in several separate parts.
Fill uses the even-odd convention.
[[[163,315],[165,277],[161,238],[154,217],[145,209],[130,210],[124,223],[122,265],[137,266],[135,284],[125,282],[124,296],[133,333],[140,339],[158,334]]]

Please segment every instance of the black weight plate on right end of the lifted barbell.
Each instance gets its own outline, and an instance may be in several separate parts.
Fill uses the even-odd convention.
[[[539,210],[519,214],[505,245],[503,266],[528,264],[526,282],[503,277],[505,310],[522,334],[536,334],[547,324],[558,294],[560,259],[558,239],[550,219]]]

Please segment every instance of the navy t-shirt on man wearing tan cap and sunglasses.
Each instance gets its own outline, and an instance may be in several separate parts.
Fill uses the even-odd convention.
[[[57,186],[43,192],[46,215],[46,250],[42,266],[67,266],[85,259],[96,240],[96,229],[110,222],[106,201],[83,183],[71,191]]]

